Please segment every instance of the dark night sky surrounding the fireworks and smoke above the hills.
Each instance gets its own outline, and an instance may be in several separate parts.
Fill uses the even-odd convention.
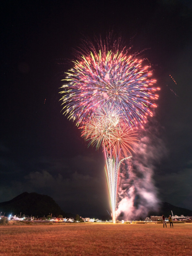
[[[145,49],[161,88],[158,198],[192,210],[191,1],[2,1],[0,18],[0,202],[27,191],[82,217],[110,212],[103,152],[62,115],[59,88],[81,40],[113,31]]]

